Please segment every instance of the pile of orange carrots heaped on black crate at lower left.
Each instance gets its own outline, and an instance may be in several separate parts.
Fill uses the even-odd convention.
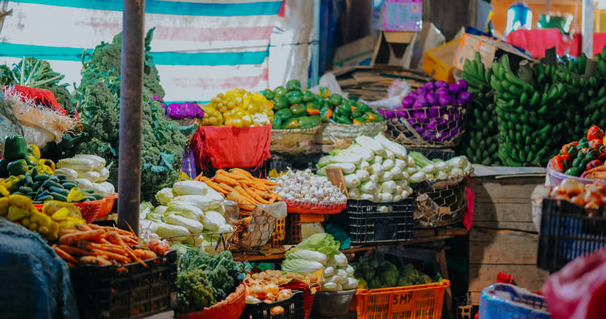
[[[131,231],[117,227],[102,227],[95,224],[76,225],[76,229],[64,229],[59,243],[52,246],[70,267],[77,265],[124,265],[141,263],[143,260],[164,253],[165,244],[150,241],[147,245],[139,242]]]

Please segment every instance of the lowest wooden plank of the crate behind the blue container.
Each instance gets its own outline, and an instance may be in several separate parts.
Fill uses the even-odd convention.
[[[519,287],[530,291],[540,291],[549,272],[541,270],[536,265],[469,265],[469,291],[471,303],[479,304],[480,291],[497,281],[497,274],[505,272],[513,276],[513,281]]]

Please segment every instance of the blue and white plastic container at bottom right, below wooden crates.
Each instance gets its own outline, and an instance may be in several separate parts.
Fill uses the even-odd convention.
[[[513,286],[492,284],[480,294],[480,319],[549,319],[543,296]]]

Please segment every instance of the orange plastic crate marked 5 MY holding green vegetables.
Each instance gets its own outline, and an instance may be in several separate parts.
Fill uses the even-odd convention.
[[[358,319],[439,319],[442,317],[444,290],[451,282],[417,284],[384,289],[360,289],[350,309]]]

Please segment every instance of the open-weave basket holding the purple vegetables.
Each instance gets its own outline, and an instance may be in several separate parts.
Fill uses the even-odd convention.
[[[437,127],[434,129],[424,128],[429,121],[437,121],[445,114],[451,115],[452,109],[455,109],[455,113],[458,118],[451,118],[447,124],[443,127]],[[467,121],[468,105],[441,107],[438,114],[434,114],[436,109],[431,107],[424,107],[420,109],[409,109],[407,111],[400,111],[397,113],[399,117],[393,119],[387,119],[387,130],[385,135],[398,143],[405,146],[417,146],[423,148],[451,148],[458,145],[463,133],[465,133],[465,123]],[[420,112],[427,116],[427,121],[419,123],[412,114]],[[417,129],[415,129],[415,127]],[[444,140],[438,140],[438,136],[444,136],[448,134],[448,138]],[[424,136],[426,135],[426,136]]]

